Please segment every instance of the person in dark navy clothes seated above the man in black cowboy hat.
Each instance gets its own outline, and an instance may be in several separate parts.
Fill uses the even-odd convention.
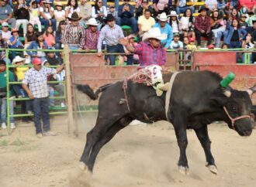
[[[137,34],[137,21],[134,17],[134,7],[129,4],[129,0],[124,0],[123,5],[119,5],[116,24],[119,26],[131,26],[133,34]]]

